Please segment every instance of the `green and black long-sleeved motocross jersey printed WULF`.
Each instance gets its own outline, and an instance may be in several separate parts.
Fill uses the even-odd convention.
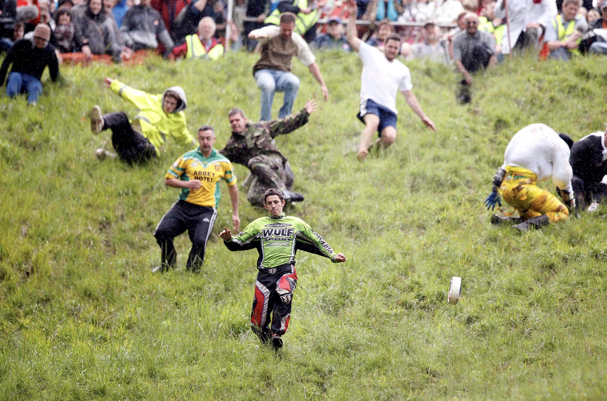
[[[304,220],[284,214],[258,218],[239,235],[223,243],[230,251],[257,248],[258,269],[294,265],[297,249],[330,258],[334,263],[337,256]]]

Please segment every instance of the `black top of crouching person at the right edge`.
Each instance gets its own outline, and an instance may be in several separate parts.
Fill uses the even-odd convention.
[[[599,136],[600,134],[600,136]],[[607,161],[603,161],[603,133],[591,134],[571,147],[569,163],[573,174],[588,183],[600,183],[607,175]]]

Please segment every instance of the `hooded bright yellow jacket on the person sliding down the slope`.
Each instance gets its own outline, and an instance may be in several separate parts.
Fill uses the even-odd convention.
[[[181,144],[190,145],[194,138],[186,127],[186,95],[180,86],[173,86],[165,90],[162,95],[151,95],[143,90],[134,89],[117,79],[110,85],[117,95],[130,100],[141,111],[131,120],[131,126],[141,132],[145,138],[154,145],[156,152],[166,142],[166,136],[170,135]],[[172,113],[165,113],[162,109],[164,95],[168,91],[175,92],[180,96],[180,101]]]

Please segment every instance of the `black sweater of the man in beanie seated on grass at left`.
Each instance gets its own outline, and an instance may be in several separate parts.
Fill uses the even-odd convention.
[[[47,44],[43,49],[38,49],[32,41],[21,39],[16,41],[12,49],[8,50],[6,58],[0,67],[0,86],[4,85],[4,79],[8,66],[13,64],[10,72],[21,72],[42,78],[42,72],[49,66],[50,79],[55,82],[59,76],[59,62],[55,55],[55,47]]]

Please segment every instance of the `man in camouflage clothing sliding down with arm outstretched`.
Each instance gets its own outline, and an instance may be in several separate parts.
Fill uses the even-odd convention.
[[[237,108],[228,113],[232,136],[219,151],[232,163],[249,167],[253,180],[246,195],[251,204],[263,206],[263,194],[270,188],[282,192],[285,202],[300,202],[303,195],[291,192],[295,177],[287,158],[280,152],[274,137],[290,133],[308,122],[308,116],[316,112],[314,100],[309,100],[297,113],[273,121],[250,123],[245,113]]]

